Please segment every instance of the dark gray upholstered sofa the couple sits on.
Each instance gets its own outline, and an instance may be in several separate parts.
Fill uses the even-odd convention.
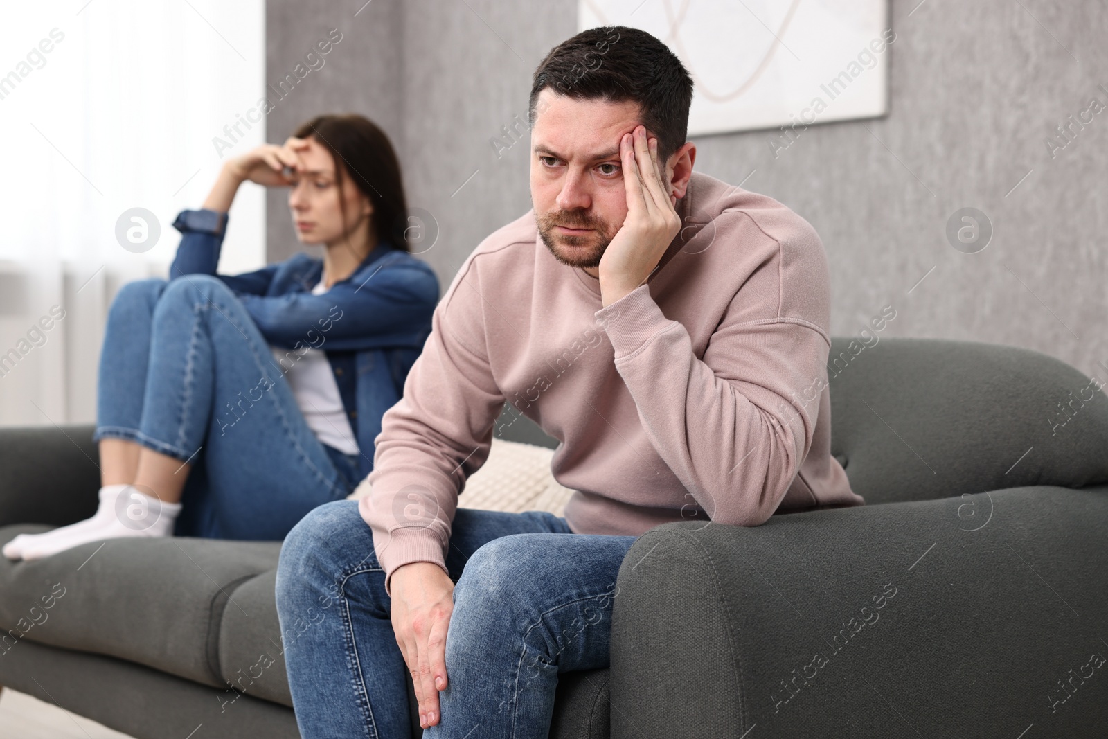
[[[1108,736],[1105,394],[976,342],[837,337],[829,372],[832,451],[868,504],[647,532],[611,669],[563,676],[551,736]],[[0,431],[0,543],[91,515],[90,435]],[[295,737],[279,547],[0,557],[0,626],[25,632],[0,684],[140,738]]]

